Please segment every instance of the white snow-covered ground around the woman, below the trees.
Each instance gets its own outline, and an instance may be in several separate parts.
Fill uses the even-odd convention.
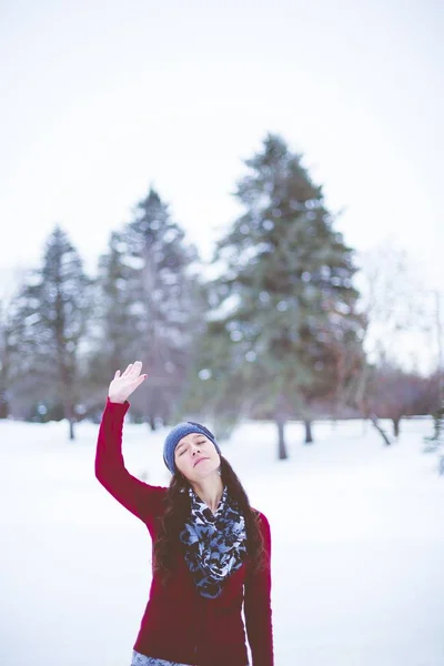
[[[209,424],[211,425],[211,424]],[[150,586],[143,524],[97,482],[98,426],[0,422],[1,666],[129,666]],[[223,443],[273,538],[276,666],[444,665],[444,477],[426,420],[244,423]],[[168,484],[165,431],[125,423],[128,468]],[[226,666],[230,666],[229,664]]]

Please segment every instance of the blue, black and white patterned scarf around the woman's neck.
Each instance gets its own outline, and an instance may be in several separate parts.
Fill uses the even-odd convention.
[[[245,521],[225,486],[215,514],[189,488],[191,515],[180,539],[194,583],[204,597],[222,594],[226,576],[238,571],[246,554]]]

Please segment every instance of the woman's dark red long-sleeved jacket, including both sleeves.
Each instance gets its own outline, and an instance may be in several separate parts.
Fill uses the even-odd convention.
[[[122,428],[129,406],[128,401],[118,404],[107,398],[99,430],[95,476],[118,502],[143,521],[154,542],[167,487],[143,483],[124,467]],[[263,514],[260,516],[270,555],[270,525]],[[221,596],[209,599],[199,594],[183,556],[178,556],[165,587],[153,572],[133,648],[150,657],[193,666],[246,666],[246,626],[253,666],[273,666],[270,592],[270,567],[254,573],[246,559],[226,578]]]

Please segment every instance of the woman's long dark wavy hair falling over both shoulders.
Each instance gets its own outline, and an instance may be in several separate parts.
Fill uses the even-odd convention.
[[[250,505],[249,497],[233,467],[221,455],[221,478],[228,492],[239,504],[245,519],[246,553],[252,561],[253,571],[261,571],[266,564],[266,553],[260,528],[260,514]],[[179,533],[190,513],[189,481],[179,470],[173,474],[165,496],[165,511],[160,522],[159,536],[154,541],[154,571],[160,574],[163,584],[171,576],[174,561],[183,546]]]

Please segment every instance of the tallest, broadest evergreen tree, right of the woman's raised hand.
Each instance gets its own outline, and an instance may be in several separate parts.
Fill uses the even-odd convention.
[[[301,155],[268,135],[246,167],[235,193],[244,213],[213,259],[225,269],[211,285],[203,362],[212,376],[224,377],[213,382],[215,396],[231,392],[235,402],[242,391],[275,420],[285,458],[285,421],[297,415],[310,427],[314,402],[334,394],[333,342],[359,347],[355,268]],[[218,367],[212,357],[221,355]]]

